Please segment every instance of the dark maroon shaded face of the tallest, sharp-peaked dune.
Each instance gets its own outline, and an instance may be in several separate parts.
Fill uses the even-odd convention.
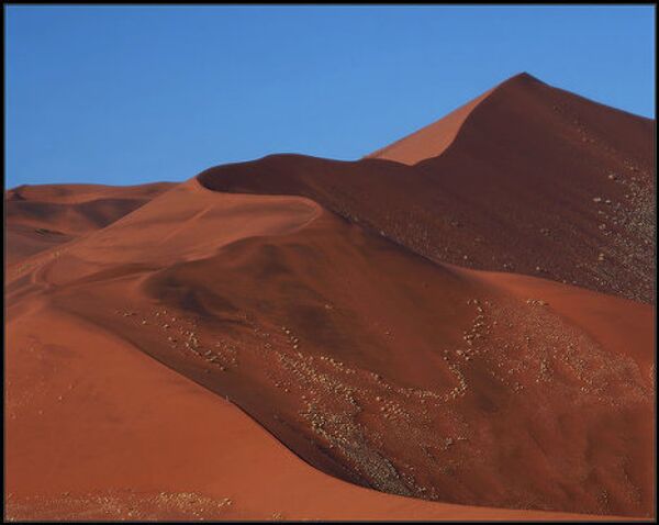
[[[451,135],[437,157],[427,132],[390,150],[400,161],[278,155],[199,180],[313,199],[435,261],[654,302],[654,121],[528,75],[468,107],[429,127]]]

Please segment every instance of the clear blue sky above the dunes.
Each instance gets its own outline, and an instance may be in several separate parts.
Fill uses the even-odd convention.
[[[655,8],[5,7],[5,187],[355,159],[528,71],[655,116]]]

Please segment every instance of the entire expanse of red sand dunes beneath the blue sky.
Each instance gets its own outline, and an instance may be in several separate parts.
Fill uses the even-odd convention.
[[[10,190],[7,516],[652,516],[652,130],[522,75],[354,163]]]

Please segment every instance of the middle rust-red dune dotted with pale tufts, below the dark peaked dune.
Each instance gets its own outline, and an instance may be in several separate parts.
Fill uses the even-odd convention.
[[[45,302],[121,334],[343,480],[651,512],[650,305],[438,265],[309,199],[197,179],[31,261],[10,316]]]

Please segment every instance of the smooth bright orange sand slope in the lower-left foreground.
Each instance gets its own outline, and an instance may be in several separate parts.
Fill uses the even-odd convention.
[[[232,403],[79,317],[36,311],[11,322],[8,337],[8,520],[570,517],[336,480]]]

